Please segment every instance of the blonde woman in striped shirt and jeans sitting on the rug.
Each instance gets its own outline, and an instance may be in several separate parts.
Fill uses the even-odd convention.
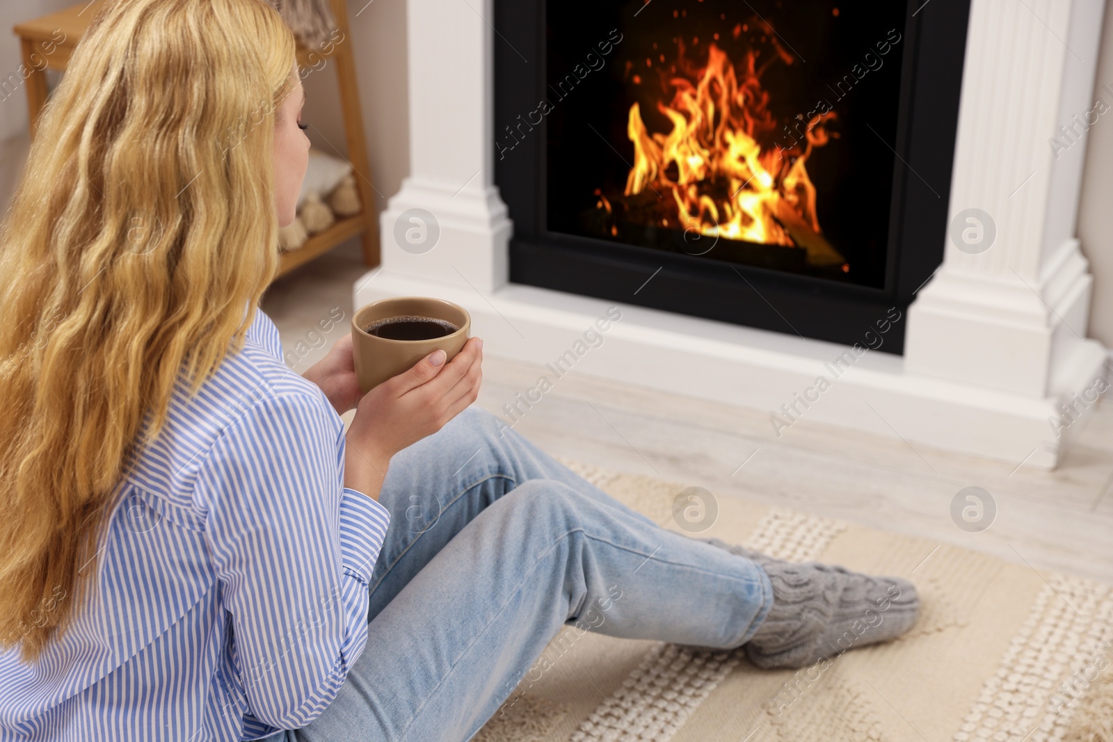
[[[477,338],[362,397],[348,338],[290,372],[257,303],[303,100],[264,0],[116,0],[43,112],[0,231],[2,739],[462,742],[593,606],[761,666],[912,625],[904,581],[662,530],[500,434]]]

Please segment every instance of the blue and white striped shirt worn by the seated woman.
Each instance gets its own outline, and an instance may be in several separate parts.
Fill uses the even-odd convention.
[[[390,523],[343,486],[344,443],[258,309],[195,398],[179,379],[69,630],[32,665],[0,654],[0,740],[240,740],[315,719],[366,643]]]

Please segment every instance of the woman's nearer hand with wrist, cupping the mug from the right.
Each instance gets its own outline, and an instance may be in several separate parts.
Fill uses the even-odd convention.
[[[434,350],[359,399],[347,432],[344,485],[378,499],[391,457],[444,427],[479,396],[483,340],[473,337],[451,363]]]

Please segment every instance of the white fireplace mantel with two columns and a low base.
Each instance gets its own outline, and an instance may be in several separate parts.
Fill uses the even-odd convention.
[[[383,264],[356,281],[355,305],[456,301],[485,353],[538,364],[618,306],[578,372],[768,410],[770,437],[792,435],[772,416],[807,393],[818,398],[797,404],[804,419],[1053,467],[1105,370],[1105,348],[1085,339],[1092,277],[1074,239],[1085,133],[1057,156],[1048,144],[1093,107],[1103,6],[973,0],[949,216],[979,209],[996,237],[976,254],[948,239],[900,319],[906,355],[867,352],[818,394],[807,390],[847,347],[509,283],[492,0],[407,0],[411,175],[382,215]]]

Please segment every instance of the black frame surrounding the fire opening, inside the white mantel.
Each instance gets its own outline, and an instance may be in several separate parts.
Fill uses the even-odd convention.
[[[510,280],[865,346],[892,307],[906,316],[943,261],[969,2],[907,2],[884,288],[551,233],[545,120],[501,159],[495,148],[495,184],[514,221]],[[495,137],[546,97],[545,4],[494,0]],[[903,353],[906,325],[892,323],[877,349]]]

